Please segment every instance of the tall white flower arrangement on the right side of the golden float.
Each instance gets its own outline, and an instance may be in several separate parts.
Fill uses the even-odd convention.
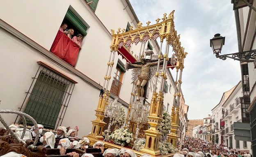
[[[167,111],[163,111],[162,119],[163,120],[160,123],[158,130],[160,131],[160,133],[166,135],[170,132],[171,129],[171,116]]]

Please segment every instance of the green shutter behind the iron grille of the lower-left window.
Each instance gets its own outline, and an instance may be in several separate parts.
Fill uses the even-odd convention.
[[[24,112],[45,128],[55,128],[65,89],[66,84],[40,73]],[[30,120],[26,120],[27,124],[33,125]]]

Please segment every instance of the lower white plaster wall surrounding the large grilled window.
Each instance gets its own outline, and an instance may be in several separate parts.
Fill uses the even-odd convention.
[[[2,42],[0,51],[5,52],[0,53],[2,60],[0,62],[0,99],[2,100],[0,109],[19,111],[25,92],[29,89],[32,77],[39,67],[37,61],[42,61],[78,82],[73,90],[62,125],[71,127],[77,125],[80,128],[79,137],[87,135],[91,130],[91,120],[96,119],[94,109],[98,104],[99,91],[2,31],[0,31],[0,41]],[[8,124],[13,123],[16,118],[14,114],[3,114],[3,117]]]

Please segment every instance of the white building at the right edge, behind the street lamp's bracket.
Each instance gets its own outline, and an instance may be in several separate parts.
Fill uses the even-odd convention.
[[[235,13],[235,24],[237,27],[238,52],[256,49],[255,22],[256,2],[250,0],[231,0]],[[241,121],[250,122],[251,125],[251,148],[252,156],[256,155],[256,62],[240,62],[243,100],[241,102]],[[250,118],[250,120],[249,120]],[[241,146],[241,145],[240,145]]]

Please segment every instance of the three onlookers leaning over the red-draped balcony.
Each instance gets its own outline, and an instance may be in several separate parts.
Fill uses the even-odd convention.
[[[83,36],[81,34],[78,34],[72,37],[72,35],[74,35],[74,29],[67,29],[67,28],[68,28],[68,25],[64,23],[59,27],[59,31],[66,34],[67,37],[69,37],[79,48],[81,48]]]

